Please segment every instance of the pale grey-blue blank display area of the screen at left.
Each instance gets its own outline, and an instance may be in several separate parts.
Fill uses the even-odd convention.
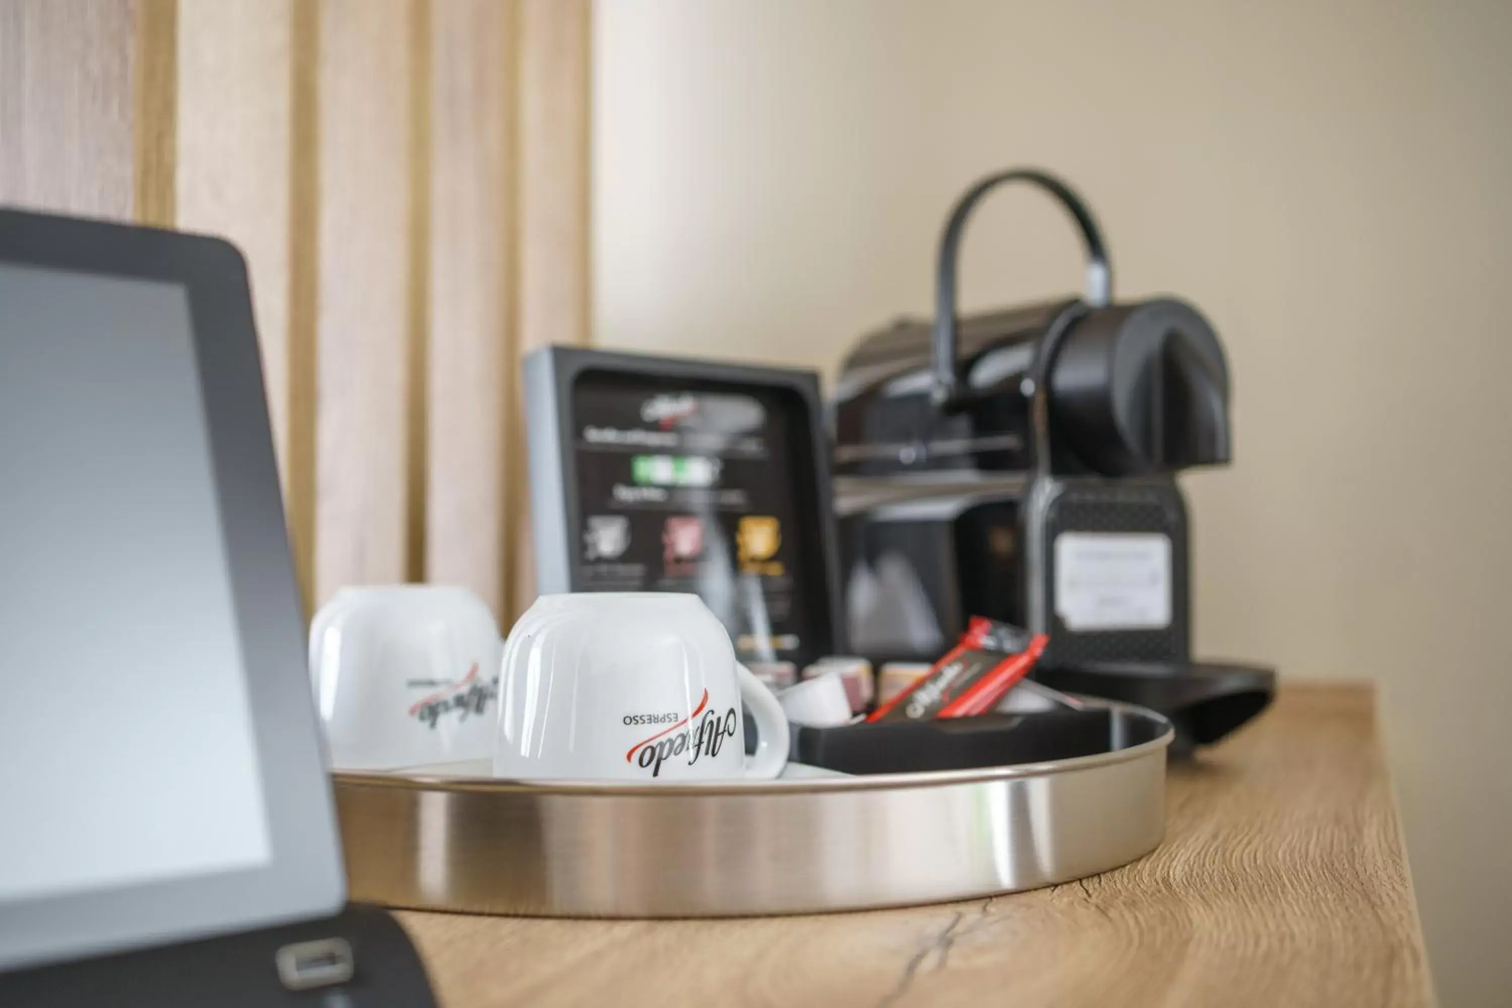
[[[0,904],[268,864],[183,286],[0,264]]]

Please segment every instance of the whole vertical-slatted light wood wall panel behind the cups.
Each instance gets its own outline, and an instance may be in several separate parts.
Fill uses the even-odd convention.
[[[508,623],[588,74],[588,0],[0,0],[0,201],[236,242],[307,604],[423,577]]]

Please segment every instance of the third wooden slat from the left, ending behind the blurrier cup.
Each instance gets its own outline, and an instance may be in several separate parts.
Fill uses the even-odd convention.
[[[314,604],[407,577],[411,18],[319,5]]]

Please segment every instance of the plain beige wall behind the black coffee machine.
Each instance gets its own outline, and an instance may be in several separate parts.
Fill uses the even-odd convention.
[[[1373,677],[1436,982],[1512,957],[1512,5],[602,0],[600,345],[833,367],[927,310],[978,174],[1063,172],[1123,296],[1225,337],[1235,465],[1191,476],[1198,647]],[[996,196],[968,308],[1074,289]]]

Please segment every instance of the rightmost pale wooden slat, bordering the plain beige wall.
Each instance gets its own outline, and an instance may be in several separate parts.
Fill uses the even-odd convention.
[[[590,2],[522,0],[517,245],[522,355],[538,346],[588,340],[590,73]],[[523,446],[519,408],[511,422],[511,443]],[[511,499],[516,529],[511,609],[519,614],[535,598],[523,458],[514,459],[511,484],[519,488]]]

